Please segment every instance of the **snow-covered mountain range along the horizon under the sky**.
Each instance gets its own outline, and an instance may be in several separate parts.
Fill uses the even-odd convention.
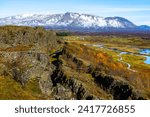
[[[23,14],[0,19],[0,25],[44,26],[50,29],[99,30],[104,28],[135,28],[129,20],[122,17],[99,17],[71,13],[37,15]]]

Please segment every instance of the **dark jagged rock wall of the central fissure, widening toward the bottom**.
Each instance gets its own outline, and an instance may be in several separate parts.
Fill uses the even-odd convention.
[[[62,61],[59,57],[64,54],[64,50],[54,54],[55,55],[53,58],[56,60],[54,60],[52,63],[55,65],[55,70],[51,75],[51,80],[53,82],[53,86],[55,87],[54,94],[59,96],[59,98],[56,97],[56,99],[96,99],[96,97],[90,94],[90,92],[83,86],[82,82],[73,77],[68,78],[63,71]]]

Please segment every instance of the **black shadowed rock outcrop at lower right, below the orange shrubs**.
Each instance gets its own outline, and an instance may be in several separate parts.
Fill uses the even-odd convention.
[[[115,100],[144,99],[142,95],[137,95],[135,88],[122,78],[109,76],[96,70],[93,70],[91,74],[95,82],[110,93]]]

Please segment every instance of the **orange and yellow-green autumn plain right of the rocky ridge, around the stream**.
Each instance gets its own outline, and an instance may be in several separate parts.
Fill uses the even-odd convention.
[[[105,74],[117,76],[128,81],[137,90],[145,91],[146,95],[150,94],[150,66],[144,64],[144,57],[135,55],[123,55],[123,60],[132,65],[132,72],[127,66],[118,61],[119,52],[105,48],[95,48],[84,46],[83,44],[103,44],[107,48],[115,48],[120,51],[137,53],[140,48],[150,48],[150,40],[143,40],[140,37],[111,37],[111,36],[84,36],[84,40],[67,38],[68,51],[88,63],[94,64],[100,71]],[[116,78],[117,78],[116,77]]]

